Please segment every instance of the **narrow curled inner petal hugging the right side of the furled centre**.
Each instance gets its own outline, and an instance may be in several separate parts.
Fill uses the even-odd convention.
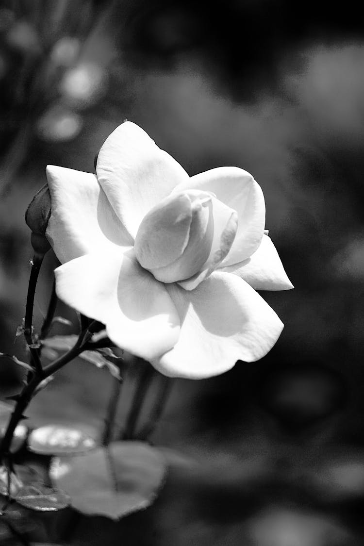
[[[179,281],[185,290],[193,290],[222,263],[229,253],[238,229],[237,213],[212,197],[213,239],[210,254],[200,270],[192,277]]]

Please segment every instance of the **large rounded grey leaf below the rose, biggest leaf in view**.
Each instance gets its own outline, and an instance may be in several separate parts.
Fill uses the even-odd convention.
[[[53,460],[50,477],[83,514],[117,520],[150,506],[165,472],[157,449],[142,442],[112,442],[82,457]]]

